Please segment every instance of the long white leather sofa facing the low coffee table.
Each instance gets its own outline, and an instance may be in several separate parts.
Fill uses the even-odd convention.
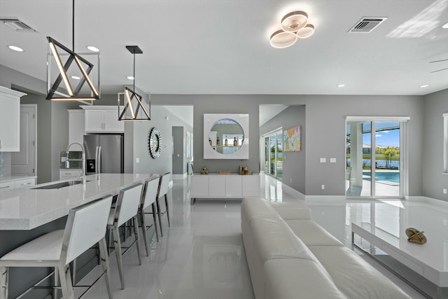
[[[241,230],[256,299],[409,299],[304,204],[244,199]]]

